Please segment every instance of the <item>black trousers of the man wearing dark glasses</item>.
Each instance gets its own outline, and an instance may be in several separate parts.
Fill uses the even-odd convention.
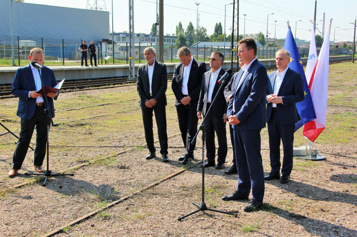
[[[208,109],[207,109],[208,110]],[[223,115],[220,117],[214,116],[214,114],[208,114],[204,122],[206,127],[205,139],[206,139],[206,156],[208,163],[215,163],[216,156],[216,144],[215,144],[215,132],[217,134],[218,140],[218,151],[217,151],[217,163],[225,163],[225,158],[227,156],[227,135],[225,123],[222,119]]]

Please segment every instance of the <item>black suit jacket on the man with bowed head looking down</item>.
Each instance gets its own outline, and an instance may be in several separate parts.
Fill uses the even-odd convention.
[[[187,90],[191,97],[190,105],[197,108],[198,98],[201,91],[201,83],[204,73],[207,71],[206,63],[193,59],[191,70],[189,71]],[[175,106],[181,104],[181,99],[185,96],[182,94],[182,77],[184,74],[184,64],[178,63],[175,66],[172,77],[172,91],[175,94]]]

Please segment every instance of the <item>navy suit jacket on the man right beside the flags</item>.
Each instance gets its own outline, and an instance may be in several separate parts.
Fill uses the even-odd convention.
[[[276,71],[268,75],[267,95],[273,94],[273,85],[276,78]],[[296,109],[296,103],[303,101],[304,83],[301,75],[290,68],[288,68],[283,82],[281,83],[277,96],[282,96],[283,103],[276,104],[276,112],[279,123],[281,124],[295,124],[301,118]],[[267,105],[267,122],[269,123],[272,114],[272,103]]]

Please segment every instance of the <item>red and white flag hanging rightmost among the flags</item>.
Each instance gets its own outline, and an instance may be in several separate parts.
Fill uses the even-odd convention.
[[[309,88],[314,104],[316,119],[304,126],[304,136],[315,142],[326,125],[327,91],[328,91],[328,68],[330,59],[330,30],[332,19],[328,25],[326,36],[323,41],[319,58],[309,81]]]

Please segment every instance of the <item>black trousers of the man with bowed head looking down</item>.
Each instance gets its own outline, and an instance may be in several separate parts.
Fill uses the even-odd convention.
[[[191,144],[191,141],[197,133],[197,105],[179,104],[176,106],[176,111],[182,141],[185,146],[185,155],[191,157],[196,147],[196,141],[193,144]]]

